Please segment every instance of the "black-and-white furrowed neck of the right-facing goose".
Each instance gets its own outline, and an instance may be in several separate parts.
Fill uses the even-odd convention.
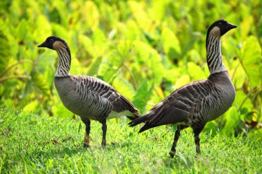
[[[205,47],[210,75],[227,70],[222,61],[221,37],[218,35],[209,35]]]

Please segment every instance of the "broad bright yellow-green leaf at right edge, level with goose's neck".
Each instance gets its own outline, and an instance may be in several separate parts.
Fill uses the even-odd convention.
[[[241,48],[241,64],[247,73],[252,88],[261,85],[261,47],[256,37],[248,37]]]

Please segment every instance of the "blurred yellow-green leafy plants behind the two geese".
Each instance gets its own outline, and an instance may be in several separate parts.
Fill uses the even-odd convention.
[[[68,42],[72,75],[107,81],[145,113],[176,88],[208,77],[206,30],[217,19],[226,19],[238,26],[222,38],[221,48],[236,99],[227,113],[205,126],[204,133],[261,139],[261,1],[3,0],[0,6],[0,131],[8,130],[12,119],[21,115],[34,119],[36,115],[26,115],[31,111],[45,110],[72,122],[72,113],[61,104],[53,85],[57,53],[37,48],[50,35]]]

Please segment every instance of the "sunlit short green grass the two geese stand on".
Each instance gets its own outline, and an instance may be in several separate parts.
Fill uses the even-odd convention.
[[[168,157],[169,126],[137,134],[125,119],[108,121],[108,146],[101,124],[91,122],[91,148],[83,148],[84,124],[46,113],[0,110],[1,173],[261,173],[261,139],[201,133],[196,157],[190,128],[181,132],[177,157]]]

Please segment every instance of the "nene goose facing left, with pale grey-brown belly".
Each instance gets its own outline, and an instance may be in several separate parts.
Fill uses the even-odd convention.
[[[66,41],[51,36],[38,47],[56,50],[59,55],[54,86],[57,88],[63,105],[72,113],[79,115],[85,124],[84,147],[90,146],[90,119],[102,124],[101,144],[105,146],[106,119],[121,115],[131,120],[139,117],[137,108],[105,81],[90,76],[70,75],[71,54]]]

